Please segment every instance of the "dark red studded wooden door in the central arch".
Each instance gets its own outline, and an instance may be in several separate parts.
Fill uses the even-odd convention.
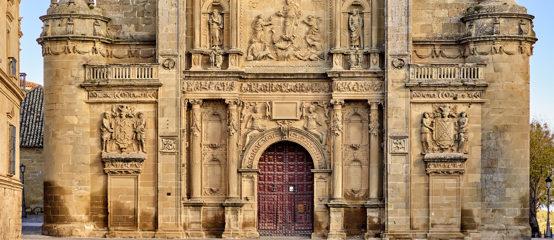
[[[258,232],[261,236],[311,236],[314,232],[314,168],[293,142],[270,146],[258,162]]]

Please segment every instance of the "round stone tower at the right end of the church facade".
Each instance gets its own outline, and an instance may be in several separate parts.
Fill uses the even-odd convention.
[[[488,63],[481,116],[481,221],[486,239],[529,239],[529,57],[532,15],[512,1],[483,1],[462,20],[467,63]]]

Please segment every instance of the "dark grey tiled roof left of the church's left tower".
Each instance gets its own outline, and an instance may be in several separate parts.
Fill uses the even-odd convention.
[[[42,147],[44,131],[44,89],[36,86],[27,92],[19,111],[19,147]]]

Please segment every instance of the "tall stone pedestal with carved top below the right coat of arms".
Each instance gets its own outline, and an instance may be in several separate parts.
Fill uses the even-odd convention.
[[[463,153],[425,154],[429,174],[429,239],[463,239],[461,234],[460,175],[464,174]]]

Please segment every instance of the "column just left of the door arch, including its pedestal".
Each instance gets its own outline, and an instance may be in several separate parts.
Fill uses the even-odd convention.
[[[226,100],[228,109],[228,141],[227,141],[227,200],[223,203],[225,206],[225,231],[222,238],[240,237],[242,222],[240,222],[240,210],[244,205],[240,201],[238,193],[238,110],[239,100]]]

